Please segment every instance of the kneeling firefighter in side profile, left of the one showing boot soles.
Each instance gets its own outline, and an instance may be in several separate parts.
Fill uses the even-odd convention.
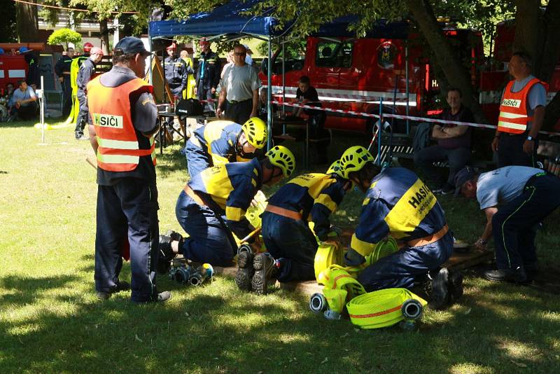
[[[231,265],[237,254],[237,237],[254,230],[245,212],[261,186],[271,186],[290,176],[295,167],[293,153],[275,146],[265,158],[229,162],[205,169],[187,183],[175,208],[177,220],[189,237],[176,233],[160,237],[160,263],[165,269],[179,252],[186,258],[217,266]],[[260,244],[249,243],[255,248]]]

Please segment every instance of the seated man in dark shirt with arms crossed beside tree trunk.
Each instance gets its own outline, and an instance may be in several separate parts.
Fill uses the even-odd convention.
[[[450,88],[447,91],[449,109],[443,111],[442,120],[472,122],[474,120],[472,113],[463,106],[462,101],[461,90]],[[455,174],[463,169],[470,160],[470,133],[469,126],[435,125],[432,130],[432,137],[437,140],[437,144],[414,153],[414,163],[423,169],[428,181],[434,183],[435,193],[447,195],[455,191]],[[439,172],[433,165],[434,162],[439,161],[449,162],[449,175],[444,183],[442,183]]]

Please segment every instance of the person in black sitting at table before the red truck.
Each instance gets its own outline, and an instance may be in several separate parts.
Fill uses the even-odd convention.
[[[295,99],[300,104],[309,106],[321,107],[317,90],[311,85],[309,76],[301,76],[300,81],[297,83],[297,91],[295,92]],[[309,121],[309,138],[318,139],[328,137],[328,133],[324,130],[326,115],[324,111],[317,111],[314,109],[298,108],[295,111],[296,116],[301,116],[302,113],[307,114]],[[327,163],[327,151],[330,141],[321,141],[316,144],[317,162],[319,164]]]

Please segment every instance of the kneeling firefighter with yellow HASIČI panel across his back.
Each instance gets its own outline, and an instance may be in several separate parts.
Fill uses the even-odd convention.
[[[381,170],[362,146],[347,149],[340,163],[344,176],[366,194],[346,263],[364,263],[375,243],[388,235],[405,242],[358,275],[365,291],[423,288],[430,307],[437,310],[460,298],[463,277],[440,268],[451,256],[453,237],[432,191],[408,169]]]

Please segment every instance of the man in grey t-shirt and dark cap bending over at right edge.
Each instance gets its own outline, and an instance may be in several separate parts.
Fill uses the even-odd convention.
[[[506,166],[482,174],[465,167],[456,174],[455,186],[456,195],[476,197],[486,214],[475,247],[484,250],[493,235],[498,270],[484,277],[531,282],[538,271],[535,226],[560,206],[560,179],[533,167]]]

